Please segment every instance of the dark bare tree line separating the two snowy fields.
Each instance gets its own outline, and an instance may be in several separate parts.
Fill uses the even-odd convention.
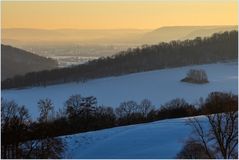
[[[210,93],[197,105],[177,98],[156,108],[150,100],[144,99],[139,104],[135,101],[122,102],[115,109],[98,106],[93,96],[72,95],[64,108],[57,112],[50,99],[39,100],[40,114],[33,121],[25,106],[2,99],[1,156],[60,158],[65,145],[58,136],[169,118],[237,111],[237,106],[237,95],[222,92]]]

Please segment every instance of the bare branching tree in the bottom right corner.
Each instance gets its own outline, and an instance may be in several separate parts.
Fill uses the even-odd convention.
[[[209,158],[237,158],[237,111],[207,115],[209,129],[197,118],[190,118],[197,142],[201,143]]]

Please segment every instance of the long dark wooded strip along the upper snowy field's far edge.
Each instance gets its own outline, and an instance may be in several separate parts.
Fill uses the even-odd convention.
[[[117,76],[134,72],[172,68],[191,64],[213,63],[237,59],[238,32],[216,33],[209,38],[171,41],[143,45],[111,57],[102,57],[86,64],[28,73],[2,81],[2,89],[45,86],[65,82]]]

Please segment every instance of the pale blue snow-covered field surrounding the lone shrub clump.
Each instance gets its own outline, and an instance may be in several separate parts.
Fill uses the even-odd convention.
[[[237,62],[186,66],[134,73],[118,77],[90,80],[86,83],[68,83],[47,87],[3,90],[2,97],[26,105],[33,117],[38,116],[37,102],[41,98],[53,100],[56,109],[73,94],[95,96],[99,105],[117,107],[126,100],[140,102],[148,98],[155,106],[174,98],[184,98],[195,103],[212,91],[226,91],[237,94]],[[210,83],[197,85],[182,83],[189,69],[204,69]]]

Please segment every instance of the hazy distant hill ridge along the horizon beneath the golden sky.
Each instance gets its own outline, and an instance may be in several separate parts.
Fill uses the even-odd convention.
[[[169,42],[171,40],[193,39],[198,36],[211,36],[216,32],[231,30],[238,30],[238,26],[164,26],[155,30],[5,28],[2,29],[2,42],[14,46],[19,44],[38,44],[39,42],[142,45]]]

